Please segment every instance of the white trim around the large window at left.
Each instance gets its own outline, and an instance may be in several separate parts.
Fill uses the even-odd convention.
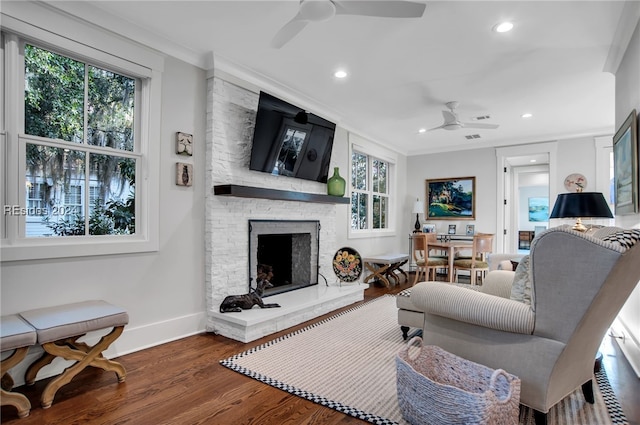
[[[0,261],[19,261],[43,258],[64,258],[93,255],[125,254],[135,252],[152,252],[159,249],[159,176],[160,176],[160,146],[161,140],[161,93],[162,93],[162,68],[164,61],[161,56],[150,50],[126,43],[125,55],[119,54],[123,46],[123,40],[117,35],[97,30],[83,22],[78,22],[68,17],[57,15],[52,22],[54,28],[47,25],[35,26],[28,24],[30,13],[33,13],[33,3],[10,8],[12,16],[2,13],[3,30],[16,34],[27,40],[33,40],[41,45],[53,46],[57,51],[74,52],[76,55],[92,59],[93,64],[104,64],[114,71],[126,72],[143,81],[141,87],[140,116],[140,152],[145,154],[141,160],[140,170],[136,172],[136,204],[139,205],[139,216],[144,217],[136,223],[135,235],[119,236],[90,236],[90,237],[56,237],[56,238],[21,238],[18,233],[18,217],[5,215],[3,212],[3,230],[0,240]],[[40,11],[40,15],[51,17],[53,13],[47,9],[46,13]],[[23,14],[24,16],[20,16]],[[49,15],[47,15],[49,14]],[[49,18],[47,18],[49,19]],[[61,23],[64,23],[62,25]],[[66,32],[75,34],[82,40],[72,40]],[[98,37],[99,35],[99,37]],[[85,37],[86,36],[86,37]],[[20,87],[15,84],[20,81],[20,63],[18,54],[18,37],[6,37],[4,46],[4,88],[7,104],[19,105],[22,96]],[[100,40],[99,49],[88,46],[87,40]],[[105,48],[105,45],[111,48]],[[131,58],[136,58],[133,62]],[[13,83],[13,84],[12,84]],[[16,87],[19,86],[19,87]],[[5,105],[7,105],[5,104]],[[15,108],[22,111],[22,108]],[[7,183],[20,181],[18,159],[18,137],[21,130],[20,123],[22,112],[19,114],[14,108],[4,108],[4,128],[0,128],[0,134],[4,135],[4,149],[0,159],[3,161],[5,175],[3,180]],[[0,120],[0,123],[3,122]],[[1,141],[1,140],[0,140]],[[2,146],[0,146],[1,148]],[[4,166],[6,165],[6,167]],[[3,195],[4,205],[22,205],[24,199],[20,198],[20,192],[24,194],[24,188],[19,190],[17,184],[7,184]],[[4,209],[4,208],[3,208]]]

